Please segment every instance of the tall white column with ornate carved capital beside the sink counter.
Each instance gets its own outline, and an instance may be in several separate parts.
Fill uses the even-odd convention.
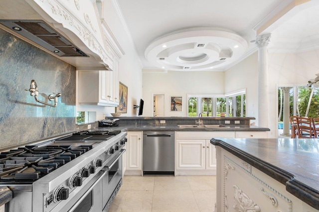
[[[258,35],[258,126],[268,127],[268,51],[270,34]]]

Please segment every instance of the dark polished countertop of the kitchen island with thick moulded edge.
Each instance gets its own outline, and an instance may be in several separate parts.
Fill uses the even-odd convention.
[[[279,181],[319,210],[319,139],[235,139],[210,141]]]

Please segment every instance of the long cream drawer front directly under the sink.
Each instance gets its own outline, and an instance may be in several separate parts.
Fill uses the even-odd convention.
[[[235,132],[176,131],[176,139],[211,139],[213,137],[234,138]]]

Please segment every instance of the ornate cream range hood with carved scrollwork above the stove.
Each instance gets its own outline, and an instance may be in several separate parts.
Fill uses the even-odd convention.
[[[11,20],[19,24],[19,21],[42,20],[53,28],[52,33],[56,31],[60,35],[58,37],[60,40],[66,41],[67,44],[71,43],[76,52],[84,53],[79,55],[83,57],[69,55],[66,57],[65,54],[61,56],[58,50],[52,51],[51,48],[43,47],[38,42],[22,35],[19,30],[14,31],[10,24],[5,24],[6,27],[0,25],[2,29],[44,51],[57,57],[61,56],[59,57],[61,60],[76,66],[77,70],[112,70],[114,57],[120,58],[124,54],[116,40],[114,42],[115,38],[107,37],[112,33],[105,33],[105,27],[102,28],[101,19],[103,18],[99,13],[99,5],[96,0],[14,0],[14,3],[12,0],[1,0],[0,7],[2,21]],[[43,41],[41,40],[40,43]]]

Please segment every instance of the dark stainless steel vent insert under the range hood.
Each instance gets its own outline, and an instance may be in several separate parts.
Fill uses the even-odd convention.
[[[43,20],[0,20],[0,23],[60,57],[88,57]]]

